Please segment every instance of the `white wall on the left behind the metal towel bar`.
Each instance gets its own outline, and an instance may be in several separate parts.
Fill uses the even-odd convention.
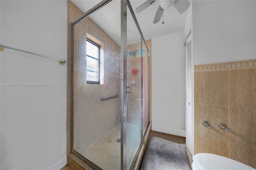
[[[0,43],[67,59],[66,0],[1,0]],[[42,170],[66,155],[67,64],[4,49],[1,83],[1,169]]]

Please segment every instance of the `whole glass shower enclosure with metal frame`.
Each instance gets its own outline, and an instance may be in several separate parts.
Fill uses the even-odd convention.
[[[146,41],[129,0],[104,0],[72,27],[72,152],[93,169],[129,170],[149,124]]]

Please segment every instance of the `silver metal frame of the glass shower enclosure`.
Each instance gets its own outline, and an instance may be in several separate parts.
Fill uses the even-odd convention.
[[[98,3],[96,6],[85,12],[82,16],[74,20],[72,25],[72,43],[74,44],[74,25],[79,23],[80,21],[84,20],[86,17],[90,16],[92,13],[96,12],[112,0],[102,0],[100,3]],[[144,40],[144,36],[142,34],[142,31],[140,29],[140,26],[138,24],[138,21],[136,19],[136,16],[134,14],[134,10],[132,9],[132,6],[130,4],[130,0],[120,0],[121,1],[121,170],[126,170],[126,118],[127,118],[127,110],[126,110],[126,58],[127,58],[127,6],[130,9],[130,12],[132,14],[132,17],[134,19],[134,22],[136,23],[136,26],[140,32],[141,40],[146,45],[146,41]],[[141,41],[141,45],[142,45]],[[146,45],[146,49],[149,49]],[[78,158],[82,159],[86,164],[88,164],[91,168],[94,170],[101,170],[98,166],[93,164],[93,162],[90,162],[86,158],[84,158],[82,155],[80,155],[78,152],[73,150],[73,87],[74,87],[74,75],[73,75],[73,69],[74,69],[74,45],[72,45],[72,153],[78,156]],[[147,127],[148,128],[148,127]],[[143,130],[141,130],[143,131]],[[143,138],[143,132],[141,137]],[[138,154],[138,151],[137,151]],[[136,154],[136,157],[137,157]],[[135,157],[135,158],[136,158]],[[133,162],[134,164],[134,162]],[[133,166],[132,164],[132,166]]]

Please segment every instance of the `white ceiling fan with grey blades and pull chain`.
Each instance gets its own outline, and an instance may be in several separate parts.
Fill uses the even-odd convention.
[[[135,9],[135,12],[140,13],[146,8],[148,8],[151,4],[154,4],[155,2],[156,0],[147,0],[139,7],[137,7]],[[153,21],[154,24],[158,23],[161,20],[164,10],[170,8],[172,5],[176,8],[176,10],[178,10],[178,12],[180,12],[180,14],[185,12],[190,6],[188,0],[159,0],[159,4],[160,5],[157,8],[156,15]],[[162,22],[162,24],[164,24],[164,21]]]

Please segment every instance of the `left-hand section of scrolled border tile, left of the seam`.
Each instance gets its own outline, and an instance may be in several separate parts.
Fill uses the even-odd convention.
[[[195,65],[194,71],[214,71],[214,70],[227,70],[228,63],[215,63],[205,65]]]

